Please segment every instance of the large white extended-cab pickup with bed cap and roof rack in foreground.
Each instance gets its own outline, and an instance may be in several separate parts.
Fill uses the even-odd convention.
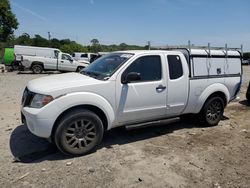
[[[63,153],[83,155],[118,126],[188,114],[217,125],[241,77],[241,54],[233,50],[113,52],[80,73],[30,81],[22,121]]]

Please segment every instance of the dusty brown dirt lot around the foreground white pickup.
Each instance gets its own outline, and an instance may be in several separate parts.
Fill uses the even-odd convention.
[[[22,90],[47,76],[0,73],[0,187],[249,187],[250,66],[216,127],[181,122],[107,132],[96,152],[63,156],[20,120]]]

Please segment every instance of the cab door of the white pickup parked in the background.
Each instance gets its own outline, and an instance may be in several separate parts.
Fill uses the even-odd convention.
[[[76,66],[73,64],[71,56],[62,53],[61,58],[58,61],[58,70],[76,71]]]

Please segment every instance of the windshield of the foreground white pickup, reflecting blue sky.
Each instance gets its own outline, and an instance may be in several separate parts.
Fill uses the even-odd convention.
[[[95,60],[80,73],[94,77],[96,79],[107,80],[123,63],[125,63],[132,56],[133,54],[129,53],[107,54]]]

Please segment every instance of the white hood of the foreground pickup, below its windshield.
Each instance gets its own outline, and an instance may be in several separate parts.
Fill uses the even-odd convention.
[[[27,87],[32,92],[53,96],[53,93],[56,91],[69,90],[71,88],[99,83],[102,83],[102,81],[80,73],[65,73],[31,80]]]

